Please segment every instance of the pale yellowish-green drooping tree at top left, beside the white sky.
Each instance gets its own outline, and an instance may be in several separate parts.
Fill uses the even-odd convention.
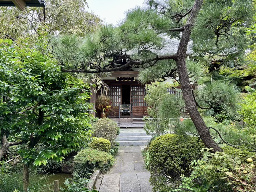
[[[96,15],[86,10],[86,0],[48,0],[46,3],[45,9],[26,7],[25,11],[19,11],[16,7],[1,7],[0,37],[30,37],[33,42],[39,35],[38,29],[44,24],[49,33],[85,36],[89,31],[94,31],[101,22]]]

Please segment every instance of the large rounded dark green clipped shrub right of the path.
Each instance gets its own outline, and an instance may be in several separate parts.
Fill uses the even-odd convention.
[[[191,161],[203,157],[201,148],[203,144],[190,136],[166,134],[153,140],[148,149],[153,191],[169,192],[181,175],[189,176]]]

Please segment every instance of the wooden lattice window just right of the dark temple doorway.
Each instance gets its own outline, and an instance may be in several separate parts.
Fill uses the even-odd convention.
[[[144,97],[146,95],[146,89],[143,85],[131,86],[131,102],[132,106],[146,106]]]

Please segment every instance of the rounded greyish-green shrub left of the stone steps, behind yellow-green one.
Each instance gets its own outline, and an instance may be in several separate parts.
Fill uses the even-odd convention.
[[[119,128],[115,121],[109,118],[101,118],[92,125],[92,130],[94,137],[108,139],[111,143],[111,148],[114,147],[114,141],[119,134]]]

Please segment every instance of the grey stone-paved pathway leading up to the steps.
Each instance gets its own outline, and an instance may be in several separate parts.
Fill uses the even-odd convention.
[[[99,176],[99,192],[152,192],[150,173],[144,168],[141,150],[144,146],[119,147],[116,162],[106,174]]]

